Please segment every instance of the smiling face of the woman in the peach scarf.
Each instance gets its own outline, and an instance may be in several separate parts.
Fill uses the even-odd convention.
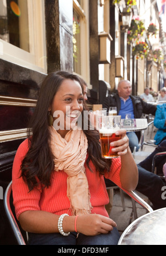
[[[54,128],[65,137],[76,126],[77,119],[83,111],[82,88],[77,81],[65,79],[56,92],[49,111],[54,119]]]

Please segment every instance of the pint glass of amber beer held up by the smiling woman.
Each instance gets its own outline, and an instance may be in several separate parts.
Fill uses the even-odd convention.
[[[99,124],[101,154],[103,158],[120,157],[117,152],[112,152],[110,143],[121,139],[121,135],[116,135],[117,130],[121,129],[121,116],[100,117]]]

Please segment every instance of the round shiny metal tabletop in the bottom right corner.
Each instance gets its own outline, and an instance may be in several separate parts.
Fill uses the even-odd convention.
[[[166,245],[166,208],[134,220],[123,232],[118,245]]]

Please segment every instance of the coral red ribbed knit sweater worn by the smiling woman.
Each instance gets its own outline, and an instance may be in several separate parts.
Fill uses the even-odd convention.
[[[13,203],[17,218],[26,210],[44,210],[46,212],[61,215],[70,212],[70,201],[66,195],[68,175],[59,170],[53,173],[52,182],[49,188],[33,189],[28,193],[27,184],[20,177],[20,165],[25,154],[28,152],[28,139],[20,144],[15,155],[12,172],[12,190]],[[85,166],[86,167],[86,166]],[[109,202],[106,191],[103,175],[96,172],[94,165],[91,163],[93,172],[86,167],[86,175],[89,183],[90,201],[92,205],[91,213],[101,214],[108,217],[105,209]],[[105,177],[111,179],[119,187],[122,187],[120,182],[121,158],[112,160],[110,173],[106,173]]]

